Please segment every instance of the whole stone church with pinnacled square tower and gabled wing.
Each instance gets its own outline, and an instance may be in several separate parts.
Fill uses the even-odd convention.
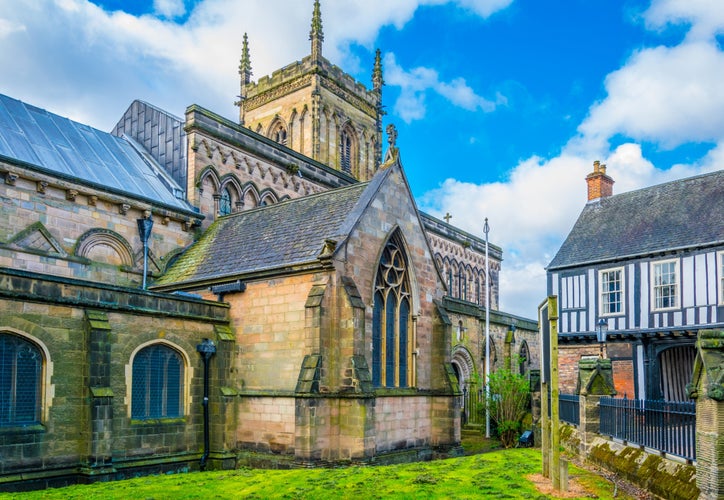
[[[379,51],[371,90],[327,61],[319,1],[310,41],[253,82],[244,37],[238,122],[0,95],[0,490],[454,455],[486,324],[490,370],[538,367],[502,250],[383,156]]]

